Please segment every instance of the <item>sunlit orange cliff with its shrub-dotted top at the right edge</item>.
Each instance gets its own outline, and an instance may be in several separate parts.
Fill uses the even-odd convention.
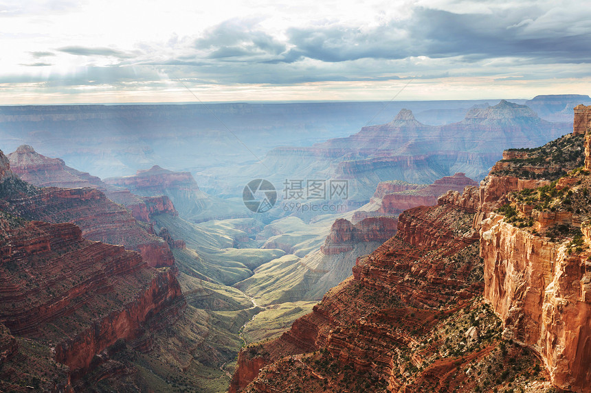
[[[484,297],[508,335],[542,356],[553,383],[575,392],[591,391],[590,114],[591,107],[577,107],[571,138],[584,135],[585,166],[509,194],[480,230]]]

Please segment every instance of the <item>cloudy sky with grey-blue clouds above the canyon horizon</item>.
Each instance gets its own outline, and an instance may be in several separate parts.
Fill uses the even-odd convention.
[[[0,104],[589,94],[585,4],[0,0]]]

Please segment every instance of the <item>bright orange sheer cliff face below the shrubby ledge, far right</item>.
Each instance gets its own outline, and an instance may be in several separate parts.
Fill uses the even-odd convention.
[[[484,298],[508,335],[542,355],[555,385],[590,392],[590,253],[569,255],[566,244],[503,218],[482,222]]]

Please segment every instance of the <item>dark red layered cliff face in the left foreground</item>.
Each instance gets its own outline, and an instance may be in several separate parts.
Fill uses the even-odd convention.
[[[174,269],[86,240],[73,224],[8,216],[1,233],[0,322],[54,347],[55,361],[76,379],[102,350],[142,336],[150,318],[179,315],[184,305]]]

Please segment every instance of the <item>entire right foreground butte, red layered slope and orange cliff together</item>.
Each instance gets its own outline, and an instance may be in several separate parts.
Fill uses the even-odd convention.
[[[404,211],[312,313],[241,350],[230,392],[591,392],[590,119]],[[327,243],[353,239],[335,226]]]

